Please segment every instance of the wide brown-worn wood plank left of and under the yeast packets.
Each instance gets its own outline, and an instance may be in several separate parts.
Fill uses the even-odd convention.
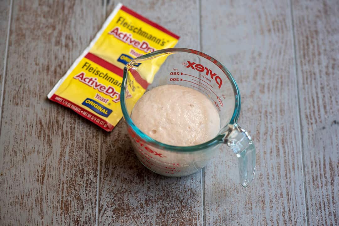
[[[94,225],[102,130],[47,93],[93,39],[103,6],[15,1],[0,138],[1,225]]]

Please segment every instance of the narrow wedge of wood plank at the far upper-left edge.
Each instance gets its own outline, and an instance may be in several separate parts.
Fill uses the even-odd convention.
[[[2,113],[2,87],[4,85],[5,70],[6,70],[6,54],[7,54],[7,33],[10,18],[11,1],[0,2],[0,125]]]

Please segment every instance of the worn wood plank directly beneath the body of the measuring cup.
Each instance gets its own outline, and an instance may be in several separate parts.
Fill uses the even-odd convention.
[[[197,2],[123,3],[181,36],[177,46],[199,48]],[[108,4],[107,15],[114,7]],[[100,225],[202,225],[201,172],[168,178],[147,170],[120,121],[102,141],[99,209]]]

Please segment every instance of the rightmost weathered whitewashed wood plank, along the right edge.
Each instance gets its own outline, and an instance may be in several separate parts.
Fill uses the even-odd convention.
[[[292,2],[308,225],[338,225],[339,4]]]

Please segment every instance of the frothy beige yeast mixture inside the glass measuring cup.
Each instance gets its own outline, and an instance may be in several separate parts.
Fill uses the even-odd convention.
[[[146,92],[132,111],[135,125],[165,144],[192,146],[214,138],[220,118],[212,101],[192,88],[158,86]]]

